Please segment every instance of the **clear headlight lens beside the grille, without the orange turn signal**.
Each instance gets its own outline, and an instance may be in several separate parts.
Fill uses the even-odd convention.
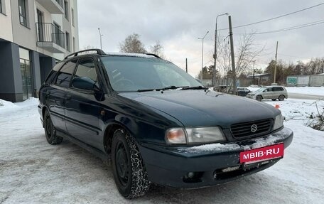
[[[225,141],[225,136],[219,127],[186,128],[185,130],[188,134],[188,143]]]

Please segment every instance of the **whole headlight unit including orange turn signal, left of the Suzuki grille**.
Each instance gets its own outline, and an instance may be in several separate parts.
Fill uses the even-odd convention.
[[[219,127],[171,128],[166,131],[168,144],[210,143],[225,141]]]

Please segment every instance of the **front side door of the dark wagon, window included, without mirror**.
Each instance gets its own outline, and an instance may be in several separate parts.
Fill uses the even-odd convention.
[[[100,98],[94,90],[85,90],[75,84],[77,78],[86,77],[96,82],[99,87],[96,67],[95,60],[92,58],[79,60],[67,90],[65,124],[70,136],[99,149],[102,146],[99,138]]]

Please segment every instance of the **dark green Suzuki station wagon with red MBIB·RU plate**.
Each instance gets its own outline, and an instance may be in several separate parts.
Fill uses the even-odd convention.
[[[274,165],[293,140],[279,109],[207,90],[157,55],[84,51],[55,65],[38,112],[49,144],[64,138],[111,159],[125,198],[151,183],[200,188],[242,178]]]

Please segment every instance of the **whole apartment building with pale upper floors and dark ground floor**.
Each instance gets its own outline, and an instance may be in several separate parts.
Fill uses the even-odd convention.
[[[0,99],[37,91],[57,60],[79,50],[77,0],[0,0]]]

